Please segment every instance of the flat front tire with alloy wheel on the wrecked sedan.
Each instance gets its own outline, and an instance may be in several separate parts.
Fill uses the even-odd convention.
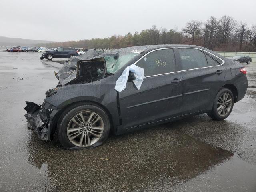
[[[76,104],[60,116],[58,140],[67,149],[86,149],[100,146],[110,132],[106,112],[94,104]]]

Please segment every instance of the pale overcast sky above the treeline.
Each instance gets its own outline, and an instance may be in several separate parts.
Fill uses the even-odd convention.
[[[222,15],[256,24],[256,0],[1,0],[0,36],[67,41],[140,32],[180,31],[189,20]]]

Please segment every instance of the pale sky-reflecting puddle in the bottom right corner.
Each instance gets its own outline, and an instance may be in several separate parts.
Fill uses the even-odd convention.
[[[157,188],[158,187],[158,188]],[[146,191],[168,191],[168,182]],[[256,191],[256,168],[234,155],[232,158],[212,166],[209,170],[188,182],[172,187],[174,191]]]

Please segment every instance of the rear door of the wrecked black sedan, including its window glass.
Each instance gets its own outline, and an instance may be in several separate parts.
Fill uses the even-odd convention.
[[[205,110],[222,87],[224,68],[210,53],[194,48],[179,48],[178,52],[183,70],[182,115]]]

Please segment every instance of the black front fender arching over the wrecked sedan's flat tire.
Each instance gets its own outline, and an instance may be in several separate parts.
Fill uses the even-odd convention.
[[[114,128],[119,125],[117,106],[117,91],[115,83],[102,83],[101,80],[87,84],[70,84],[57,88],[52,96],[44,99],[49,104],[62,110],[72,103],[89,101],[102,106],[108,115]]]

